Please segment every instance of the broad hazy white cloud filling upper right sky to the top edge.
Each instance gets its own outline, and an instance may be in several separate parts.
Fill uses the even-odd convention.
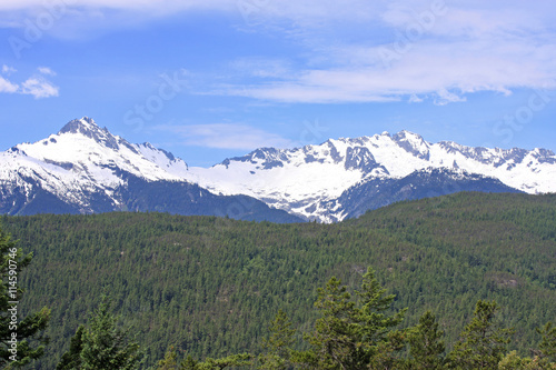
[[[319,39],[317,27],[290,32],[310,50],[302,70],[215,93],[314,103],[415,102],[420,96],[447,104],[479,91],[556,88],[556,3],[414,0],[377,10],[378,31],[356,18],[335,29],[359,31],[350,38]]]

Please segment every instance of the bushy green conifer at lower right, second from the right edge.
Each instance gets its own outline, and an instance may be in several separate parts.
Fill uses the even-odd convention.
[[[510,329],[502,329],[495,321],[499,307],[496,302],[477,302],[474,317],[460,340],[448,356],[451,369],[497,369],[507,352]]]

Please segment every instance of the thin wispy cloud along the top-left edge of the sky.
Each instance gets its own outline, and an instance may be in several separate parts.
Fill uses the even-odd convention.
[[[13,33],[16,39],[10,40],[19,54],[23,50],[20,48],[32,46],[44,34],[60,40],[90,40],[197,10],[235,11],[236,1],[0,0],[0,29],[19,29]]]

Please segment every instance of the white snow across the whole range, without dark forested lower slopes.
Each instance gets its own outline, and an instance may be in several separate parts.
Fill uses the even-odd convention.
[[[330,222],[344,219],[335,200],[348,189],[430,168],[481,174],[527,193],[556,192],[556,156],[545,149],[430,143],[401,131],[296,149],[261,148],[211,168],[189,168],[171,153],[149,143],[129,143],[89,118],[1,152],[0,191],[4,197],[14,191],[31,197],[40,187],[87,212],[92,192],[100,191],[117,204],[113,194],[126,186],[123,174],[129,173],[148,181],[188,181],[216,194],[246,194],[306,219]]]

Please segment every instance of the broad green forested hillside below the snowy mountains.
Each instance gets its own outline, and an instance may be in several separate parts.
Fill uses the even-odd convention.
[[[431,310],[454,343],[479,299],[496,300],[520,353],[556,318],[556,196],[458,193],[407,201],[337,224],[235,221],[163,213],[2,217],[34,258],[21,307],[52,316],[36,369],[52,369],[102,289],[148,364],[170,346],[197,358],[257,352],[279,309],[301,331],[317,288],[351,287],[371,267],[408,308]],[[24,312],[22,312],[24,313]]]

